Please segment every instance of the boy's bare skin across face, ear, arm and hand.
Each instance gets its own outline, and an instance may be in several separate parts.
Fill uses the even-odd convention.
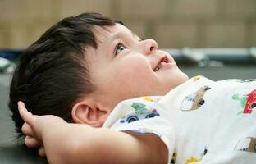
[[[39,155],[50,163],[166,163],[167,147],[156,135],[98,127],[122,100],[164,95],[188,76],[167,52],[158,50],[153,39],[141,40],[123,25],[95,27],[94,34],[98,48],[86,48],[86,63],[96,90],[72,108],[73,120],[80,124],[68,124],[57,116],[35,116],[19,102],[25,144],[39,148]],[[164,57],[167,65],[153,71]],[[99,157],[99,152],[104,156]]]

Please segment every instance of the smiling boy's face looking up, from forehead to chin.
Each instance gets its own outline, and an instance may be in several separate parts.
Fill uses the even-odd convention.
[[[152,39],[141,40],[125,26],[95,27],[98,48],[87,48],[95,101],[112,110],[127,98],[164,95],[188,79]]]

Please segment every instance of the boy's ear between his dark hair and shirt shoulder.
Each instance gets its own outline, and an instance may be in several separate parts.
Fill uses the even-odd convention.
[[[72,108],[72,118],[75,123],[87,124],[92,127],[101,127],[107,119],[108,112],[86,101],[76,103]]]

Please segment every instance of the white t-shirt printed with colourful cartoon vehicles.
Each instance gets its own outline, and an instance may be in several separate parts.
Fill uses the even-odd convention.
[[[119,103],[103,127],[157,134],[168,163],[256,163],[256,80],[195,76],[165,96]]]

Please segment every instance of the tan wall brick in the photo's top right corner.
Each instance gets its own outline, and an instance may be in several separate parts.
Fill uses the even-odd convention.
[[[225,0],[226,16],[254,16],[256,17],[255,0]]]

